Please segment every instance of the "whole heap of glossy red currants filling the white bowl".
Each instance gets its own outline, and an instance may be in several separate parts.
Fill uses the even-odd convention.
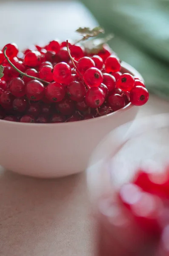
[[[97,55],[79,45],[51,41],[19,52],[0,51],[0,119],[18,122],[72,122],[143,105],[149,93],[139,79],[120,73],[119,58],[105,45]]]

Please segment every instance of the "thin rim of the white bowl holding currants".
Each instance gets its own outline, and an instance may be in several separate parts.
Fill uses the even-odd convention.
[[[126,70],[129,71],[129,73],[131,73],[133,76],[136,76],[138,77],[140,80],[144,81],[143,80],[143,77],[140,75],[140,73],[134,68],[132,67],[130,64],[126,63],[125,61],[122,61],[121,62],[121,67],[125,68]],[[91,119],[85,119],[85,120],[80,120],[80,121],[74,121],[74,122],[60,122],[60,123],[26,123],[26,122],[10,122],[10,121],[6,121],[6,120],[3,120],[3,119],[0,119],[0,124],[12,124],[12,125],[17,125],[17,126],[31,126],[31,127],[44,127],[44,126],[50,126],[50,127],[53,127],[53,126],[66,126],[66,125],[77,125],[77,123],[83,123],[83,122],[97,122],[99,121],[100,119],[103,119],[103,118],[107,118],[107,117],[110,117],[110,116],[113,116],[115,115],[116,113],[120,113],[122,111],[127,111],[131,108],[135,108],[134,105],[132,105],[131,102],[129,102],[129,104],[127,104],[126,106],[124,106],[123,108],[120,108],[119,110],[115,111],[115,112],[112,112],[112,113],[109,113],[109,114],[106,114],[106,115],[103,115],[103,116],[98,116],[96,118],[91,118]],[[138,108],[138,107],[137,107]]]

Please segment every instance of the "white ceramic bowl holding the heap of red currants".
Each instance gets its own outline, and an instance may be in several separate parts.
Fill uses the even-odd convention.
[[[123,73],[142,79],[129,64]],[[29,124],[0,120],[0,165],[23,175],[60,177],[86,169],[100,140],[119,125],[132,121],[138,107],[126,105],[114,113],[93,119]]]

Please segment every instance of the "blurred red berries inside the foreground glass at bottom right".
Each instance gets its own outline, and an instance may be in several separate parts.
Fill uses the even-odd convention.
[[[148,234],[147,243],[159,241],[158,253],[150,254],[169,255],[169,167],[159,173],[139,170],[132,183],[120,187],[119,198]]]

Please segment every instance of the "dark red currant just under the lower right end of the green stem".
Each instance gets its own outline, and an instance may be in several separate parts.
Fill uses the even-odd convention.
[[[26,96],[32,101],[43,98],[45,94],[44,85],[38,80],[32,80],[26,84]]]

